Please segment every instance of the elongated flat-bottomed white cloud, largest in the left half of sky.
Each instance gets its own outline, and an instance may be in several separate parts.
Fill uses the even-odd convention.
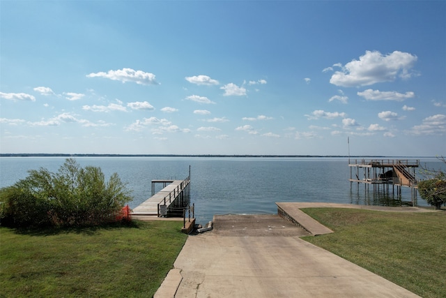
[[[105,77],[110,80],[125,82],[135,82],[142,85],[156,85],[153,73],[145,73],[142,70],[133,70],[132,68],[123,68],[118,70],[109,70],[107,73],[90,73],[87,77]]]

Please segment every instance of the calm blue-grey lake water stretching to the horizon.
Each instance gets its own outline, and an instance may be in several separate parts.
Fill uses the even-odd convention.
[[[28,170],[45,167],[56,172],[61,157],[0,158],[0,187],[27,177]],[[191,167],[191,202],[197,222],[211,221],[214,214],[275,214],[275,202],[336,202],[347,204],[394,204],[383,193],[357,188],[348,181],[348,158],[159,158],[82,157],[83,167],[101,167],[106,177],[117,172],[128,184],[137,207],[151,196],[153,179],[185,179]],[[436,158],[422,164],[444,167]],[[410,202],[410,189],[402,188],[401,200]],[[418,205],[426,202],[418,196]]]

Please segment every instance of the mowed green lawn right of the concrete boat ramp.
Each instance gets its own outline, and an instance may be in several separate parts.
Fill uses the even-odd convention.
[[[307,208],[334,233],[302,237],[422,297],[446,297],[446,212]]]

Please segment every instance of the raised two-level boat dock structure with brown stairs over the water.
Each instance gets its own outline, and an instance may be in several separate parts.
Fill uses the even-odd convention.
[[[354,182],[364,184],[366,188],[373,185],[374,191],[379,191],[383,186],[383,191],[401,195],[401,187],[410,188],[411,198],[413,202],[417,200],[417,184],[415,177],[415,168],[420,166],[420,160],[410,159],[355,159],[348,160],[350,167],[350,184]]]

